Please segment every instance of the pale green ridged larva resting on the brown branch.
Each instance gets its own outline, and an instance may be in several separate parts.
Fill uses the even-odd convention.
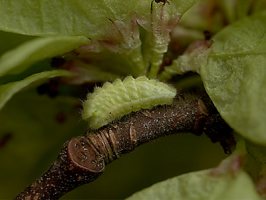
[[[175,88],[165,83],[144,76],[136,79],[128,76],[89,93],[82,117],[91,129],[98,129],[133,111],[171,104],[175,95]]]

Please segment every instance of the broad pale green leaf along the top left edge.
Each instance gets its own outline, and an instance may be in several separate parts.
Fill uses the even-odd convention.
[[[143,0],[122,2],[120,0],[90,2],[1,0],[0,29],[29,35],[64,34],[98,37],[108,32],[108,27],[112,24],[110,19],[125,22],[138,17],[140,23],[145,24],[151,12],[151,2]],[[180,15],[191,6],[191,2],[191,0],[171,1],[171,14]]]

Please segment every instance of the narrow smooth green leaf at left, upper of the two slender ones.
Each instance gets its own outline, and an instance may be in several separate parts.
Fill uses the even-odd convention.
[[[54,36],[30,40],[0,58],[0,76],[17,74],[37,61],[61,55],[86,43],[88,39],[81,36]]]

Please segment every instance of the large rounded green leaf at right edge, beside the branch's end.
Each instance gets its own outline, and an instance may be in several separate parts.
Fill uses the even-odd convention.
[[[201,67],[205,88],[227,123],[266,145],[266,12],[230,25],[213,38]]]

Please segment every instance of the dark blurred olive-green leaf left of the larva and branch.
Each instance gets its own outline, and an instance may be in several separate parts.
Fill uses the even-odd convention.
[[[49,167],[67,139],[83,134],[79,103],[38,96],[34,89],[0,111],[0,199],[14,199]]]

